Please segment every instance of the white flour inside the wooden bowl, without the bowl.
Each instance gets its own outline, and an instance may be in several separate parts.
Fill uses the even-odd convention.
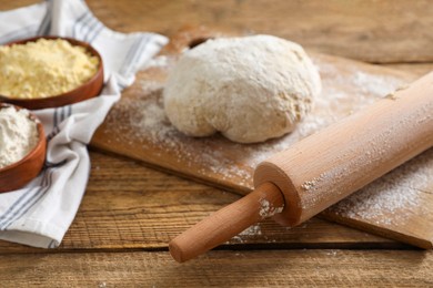
[[[37,123],[26,110],[0,107],[0,168],[19,162],[39,140]]]

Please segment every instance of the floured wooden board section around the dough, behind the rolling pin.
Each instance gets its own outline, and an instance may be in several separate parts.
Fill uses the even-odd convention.
[[[178,172],[189,177],[246,194],[253,188],[254,167],[275,152],[383,97],[415,76],[356,61],[313,54],[323,92],[315,109],[285,137],[254,145],[232,143],[219,135],[192,138],[179,133],[164,117],[161,91],[175,58],[194,39],[219,32],[181,31],[164,49],[162,64],[138,74],[122,94],[92,145]],[[149,120],[149,121],[148,121]]]

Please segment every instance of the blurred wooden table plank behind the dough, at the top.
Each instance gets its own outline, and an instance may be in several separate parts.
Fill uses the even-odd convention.
[[[183,24],[204,24],[236,33],[275,34],[319,52],[374,63],[433,61],[433,6],[425,0],[411,4],[405,0],[88,3],[104,23],[121,31],[172,34]]]

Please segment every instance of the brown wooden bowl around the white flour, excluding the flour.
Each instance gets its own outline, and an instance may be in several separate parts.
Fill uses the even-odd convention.
[[[14,105],[1,104],[0,109]],[[14,106],[17,110],[21,107]],[[39,141],[34,148],[22,160],[0,168],[0,193],[16,191],[33,179],[42,169],[47,153],[47,138],[42,123],[30,113],[30,119],[37,123]]]

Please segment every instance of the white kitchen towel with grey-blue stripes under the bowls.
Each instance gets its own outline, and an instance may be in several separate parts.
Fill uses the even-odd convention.
[[[0,12],[0,44],[34,35],[90,42],[102,55],[101,95],[73,105],[34,111],[48,135],[41,174],[24,188],[0,194],[0,239],[58,247],[71,225],[90,172],[87,144],[120,91],[167,43],[155,33],[119,33],[105,28],[81,0],[50,0]]]

